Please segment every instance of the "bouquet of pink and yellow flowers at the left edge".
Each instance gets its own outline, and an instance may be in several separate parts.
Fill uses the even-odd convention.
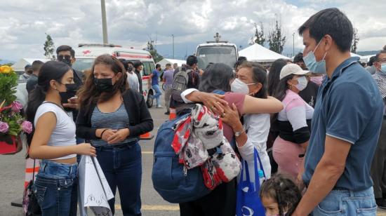
[[[21,133],[32,133],[32,123],[20,114],[22,104],[16,101],[18,74],[12,67],[0,66],[0,154],[21,150]]]

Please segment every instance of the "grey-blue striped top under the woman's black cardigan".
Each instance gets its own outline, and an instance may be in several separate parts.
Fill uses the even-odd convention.
[[[124,106],[124,103],[121,104],[121,107],[115,112],[100,112],[98,106],[95,106],[93,114],[91,115],[91,127],[92,128],[110,128],[114,130],[120,130],[123,128],[128,128],[128,113]],[[131,142],[138,142],[137,138],[126,137],[125,140],[115,143],[114,145],[127,144]],[[91,144],[94,147],[107,145],[105,140],[91,140]]]

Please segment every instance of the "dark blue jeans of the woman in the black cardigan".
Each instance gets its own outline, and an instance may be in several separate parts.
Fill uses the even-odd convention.
[[[98,162],[115,196],[117,187],[124,215],[141,215],[142,157],[140,144],[95,147]],[[115,198],[109,200],[114,214]]]

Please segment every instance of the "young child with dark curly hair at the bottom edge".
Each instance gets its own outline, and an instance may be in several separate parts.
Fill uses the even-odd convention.
[[[266,216],[291,215],[302,195],[293,181],[277,174],[262,183],[260,199]]]

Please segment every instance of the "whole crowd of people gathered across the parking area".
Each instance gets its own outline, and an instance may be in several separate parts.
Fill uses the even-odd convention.
[[[352,23],[337,8],[312,15],[298,33],[303,52],[269,69],[246,58],[234,68],[199,69],[194,55],[182,67],[168,64],[164,93],[156,65],[151,97],[162,108],[164,94],[165,114],[175,109],[183,116],[200,103],[218,116],[260,188],[266,215],[375,215],[377,206],[386,208],[386,49],[368,66],[350,57]],[[124,215],[141,215],[138,141],[154,127],[142,96],[142,63],[100,55],[83,74],[72,69],[71,47],[56,54],[58,61],[35,61],[20,76],[34,123],[28,154],[41,159],[33,190],[42,215],[76,215],[81,155],[98,159],[113,194],[119,190]],[[185,88],[178,88],[176,77],[184,73]],[[179,203],[180,215],[236,215],[242,173]]]

